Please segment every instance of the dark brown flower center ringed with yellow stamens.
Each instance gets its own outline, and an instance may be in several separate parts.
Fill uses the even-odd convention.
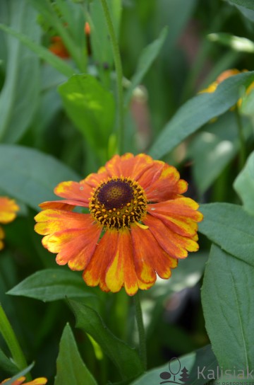
[[[123,229],[146,214],[143,188],[131,178],[110,178],[95,189],[90,198],[92,217],[109,229]]]

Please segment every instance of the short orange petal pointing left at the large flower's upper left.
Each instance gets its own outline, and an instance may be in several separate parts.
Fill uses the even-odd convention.
[[[67,198],[68,200],[85,202],[88,206],[92,188],[87,185],[87,183],[83,183],[83,181],[78,183],[69,180],[68,182],[59,183],[59,185],[54,188],[54,193],[59,197]]]

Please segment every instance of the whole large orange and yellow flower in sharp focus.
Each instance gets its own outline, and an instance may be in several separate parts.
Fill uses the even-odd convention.
[[[84,270],[89,286],[105,292],[125,287],[133,295],[167,279],[178,258],[198,250],[198,204],[183,197],[188,184],[176,168],[150,156],[116,155],[78,182],[62,182],[44,202],[35,231],[57,253],[56,262]],[[87,207],[89,214],[73,212]],[[101,239],[100,239],[101,236]]]

